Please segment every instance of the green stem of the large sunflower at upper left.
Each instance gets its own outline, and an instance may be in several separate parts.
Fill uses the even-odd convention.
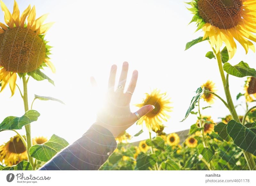
[[[28,77],[29,79],[29,77]],[[23,81],[23,103],[25,112],[28,111],[28,79],[26,77],[22,77]],[[29,155],[29,148],[32,146],[32,139],[31,139],[31,128],[30,124],[25,125],[26,129],[26,136],[27,136],[27,152],[28,152],[28,161],[31,163],[32,167],[34,166],[34,159]],[[34,167],[33,167],[34,169]]]

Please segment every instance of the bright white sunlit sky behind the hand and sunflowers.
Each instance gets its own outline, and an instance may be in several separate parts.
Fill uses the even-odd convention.
[[[13,1],[3,0],[12,12]],[[207,42],[197,44],[184,51],[188,41],[202,36],[194,33],[194,24],[188,25],[192,14],[183,1],[177,0],[17,0],[20,12],[30,3],[36,6],[36,17],[50,13],[47,22],[55,22],[48,31],[46,39],[53,46],[52,62],[57,73],[47,69],[45,74],[55,82],[35,81],[28,84],[29,102],[34,94],[55,97],[66,105],[52,101],[36,100],[33,109],[41,116],[31,124],[32,136],[50,137],[56,134],[72,143],[83,135],[95,121],[97,97],[91,91],[90,76],[94,76],[99,86],[107,85],[109,69],[112,64],[119,67],[124,61],[130,63],[130,75],[134,69],[139,71],[139,80],[133,94],[132,104],[140,103],[144,93],[154,88],[167,92],[171,97],[173,112],[171,119],[164,123],[166,133],[190,128],[196,116],[183,119],[194,91],[208,79],[216,83],[218,94],[224,91],[217,62],[205,58],[210,46]],[[0,12],[0,21],[4,14]],[[255,54],[245,55],[238,46],[232,65],[241,60],[256,68]],[[130,79],[130,76],[128,77]],[[246,78],[230,77],[233,99],[243,91]],[[22,86],[21,81],[17,84]],[[23,101],[18,90],[11,97],[9,87],[0,93],[0,121],[7,116],[24,114]],[[236,103],[239,104],[242,99]],[[202,104],[207,106],[207,104]],[[132,106],[132,111],[137,108]],[[239,114],[244,114],[238,107]],[[214,121],[228,114],[222,102],[216,100],[212,108],[203,111]],[[134,135],[140,126],[132,126],[128,132]],[[25,129],[22,130],[25,134]],[[0,144],[14,136],[12,131],[1,132]],[[133,141],[148,138],[148,133],[134,137]]]

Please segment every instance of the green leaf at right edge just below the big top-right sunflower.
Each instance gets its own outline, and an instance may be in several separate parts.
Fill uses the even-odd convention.
[[[229,63],[224,63],[223,69],[230,75],[236,77],[245,77],[245,76],[253,76],[256,77],[256,71],[254,68],[250,68],[247,63],[241,61],[235,66],[230,65]]]

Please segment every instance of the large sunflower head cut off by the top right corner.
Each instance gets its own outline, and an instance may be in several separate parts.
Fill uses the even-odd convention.
[[[203,40],[209,37],[211,47],[220,51],[226,44],[231,59],[236,53],[236,39],[245,49],[255,52],[251,41],[256,42],[256,1],[255,0],[193,0],[188,8],[194,14],[191,22],[197,23],[197,30],[204,31]],[[190,23],[191,23],[190,22]],[[249,41],[251,40],[251,41]]]

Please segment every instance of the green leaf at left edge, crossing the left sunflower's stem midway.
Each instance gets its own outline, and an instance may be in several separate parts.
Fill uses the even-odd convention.
[[[23,116],[15,117],[9,116],[0,124],[0,131],[21,129],[23,126],[36,121],[40,116],[39,112],[35,110],[28,110]]]

